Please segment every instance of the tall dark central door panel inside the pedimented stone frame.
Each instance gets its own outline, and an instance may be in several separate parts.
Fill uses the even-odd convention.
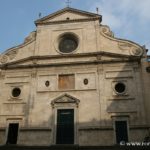
[[[56,144],[74,144],[74,110],[57,110]]]

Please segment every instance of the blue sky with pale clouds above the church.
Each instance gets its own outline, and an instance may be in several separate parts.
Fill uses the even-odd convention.
[[[24,41],[36,30],[34,21],[66,7],[66,0],[0,0],[0,52]],[[150,49],[150,0],[71,0],[70,7],[96,12],[115,37]],[[150,54],[150,52],[149,52]]]

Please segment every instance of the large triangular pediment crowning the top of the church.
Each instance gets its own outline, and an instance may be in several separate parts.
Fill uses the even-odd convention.
[[[67,7],[60,11],[52,13],[46,17],[36,20],[35,24],[53,23],[59,21],[75,21],[75,20],[94,19],[94,18],[101,20],[101,15]]]

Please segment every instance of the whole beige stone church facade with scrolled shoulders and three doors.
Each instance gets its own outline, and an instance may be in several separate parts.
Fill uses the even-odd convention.
[[[115,145],[149,137],[146,49],[102,16],[64,8],[0,55],[0,144]]]

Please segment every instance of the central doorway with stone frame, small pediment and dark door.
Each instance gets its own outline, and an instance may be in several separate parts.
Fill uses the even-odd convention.
[[[66,93],[52,100],[53,144],[78,144],[79,102]]]

